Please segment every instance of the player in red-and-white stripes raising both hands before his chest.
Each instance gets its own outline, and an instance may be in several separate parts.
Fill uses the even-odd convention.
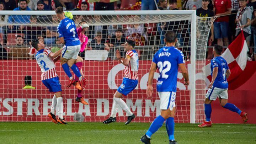
[[[136,50],[134,50],[135,42],[128,40],[124,44],[124,50],[126,51],[126,58],[121,58],[119,50],[116,51],[116,57],[121,62],[124,68],[124,78],[122,84],[118,87],[116,93],[114,94],[114,100],[111,110],[110,118],[108,118],[103,123],[116,122],[116,114],[118,111],[118,106],[120,106],[127,114],[128,118],[125,124],[129,124],[135,115],[130,111],[126,103],[121,99],[122,95],[128,95],[138,84],[138,68],[139,68],[139,57]]]

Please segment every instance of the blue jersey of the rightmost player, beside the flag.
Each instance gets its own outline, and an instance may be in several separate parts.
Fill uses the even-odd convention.
[[[226,80],[226,71],[229,69],[228,63],[223,57],[215,57],[211,60],[211,75],[215,67],[218,67],[218,75],[213,82],[213,86],[220,89],[227,89],[228,81]]]

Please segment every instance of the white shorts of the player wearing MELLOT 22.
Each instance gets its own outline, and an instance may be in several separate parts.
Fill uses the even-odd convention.
[[[176,106],[176,92],[158,92],[158,96],[160,98],[160,110],[167,110],[168,108],[170,108],[170,110],[172,111],[172,109]]]

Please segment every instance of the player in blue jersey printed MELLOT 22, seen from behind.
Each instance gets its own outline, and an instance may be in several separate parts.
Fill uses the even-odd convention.
[[[160,74],[156,89],[160,98],[161,114],[156,117],[146,134],[140,138],[140,141],[145,144],[150,144],[151,135],[162,127],[164,121],[166,121],[165,125],[170,144],[176,144],[174,139],[174,116],[178,67],[180,67],[181,73],[185,79],[184,84],[189,84],[188,71],[185,66],[183,53],[174,47],[177,42],[176,33],[167,31],[164,41],[166,46],[159,49],[153,57],[147,87],[147,95],[151,97],[153,94],[153,77],[156,68],[158,68]]]

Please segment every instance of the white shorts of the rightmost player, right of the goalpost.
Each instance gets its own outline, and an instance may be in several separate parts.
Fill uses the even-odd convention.
[[[217,97],[222,99],[228,99],[228,89],[220,89],[218,87],[213,87],[212,89],[209,89],[206,94],[206,98],[209,98],[209,100],[216,100]]]

